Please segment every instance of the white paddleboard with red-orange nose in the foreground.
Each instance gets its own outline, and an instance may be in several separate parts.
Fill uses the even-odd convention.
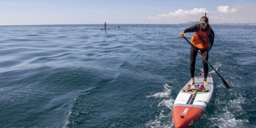
[[[206,111],[206,108],[211,102],[214,89],[211,74],[208,73],[207,76],[207,82],[209,85],[204,85],[203,73],[199,76],[195,76],[194,80],[194,85],[189,85],[191,82],[190,80],[182,88],[174,102],[173,123],[176,128],[187,128],[192,126],[202,117],[204,111]],[[198,88],[196,88],[197,86]]]

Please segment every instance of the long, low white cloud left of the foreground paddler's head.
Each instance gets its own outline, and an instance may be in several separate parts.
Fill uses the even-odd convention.
[[[192,10],[183,10],[183,9],[178,9],[175,12],[169,12],[169,14],[160,14],[155,17],[149,16],[149,19],[159,19],[161,17],[177,17],[177,16],[186,16],[186,15],[196,15],[196,14],[202,14],[202,13],[207,13],[209,12],[205,8],[194,8]]]

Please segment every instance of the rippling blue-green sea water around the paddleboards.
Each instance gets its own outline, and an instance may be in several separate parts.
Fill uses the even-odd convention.
[[[117,26],[0,26],[0,128],[174,128],[189,25]],[[213,99],[192,128],[255,128],[256,26],[212,28],[209,63],[231,89],[209,67]]]

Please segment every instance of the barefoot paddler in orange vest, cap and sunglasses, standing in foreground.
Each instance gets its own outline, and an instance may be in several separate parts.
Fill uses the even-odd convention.
[[[213,29],[211,29],[211,26],[209,25],[208,17],[202,16],[200,19],[199,24],[195,24],[190,26],[189,28],[184,29],[180,33],[180,37],[185,36],[185,33],[191,33],[195,32],[194,36],[191,38],[190,43],[197,48],[197,50],[200,50],[202,54],[202,63],[204,67],[204,85],[209,85],[207,83],[207,75],[209,71],[209,67],[206,61],[208,61],[208,52],[211,50],[211,47],[213,47],[214,42],[214,32]],[[197,51],[190,47],[190,74],[191,74],[191,83],[190,85],[194,84],[194,73],[195,73],[195,59],[197,56]],[[205,61],[205,60],[206,61]]]

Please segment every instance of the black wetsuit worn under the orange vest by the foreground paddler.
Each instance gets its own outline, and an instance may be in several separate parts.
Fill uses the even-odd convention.
[[[192,33],[192,32],[195,32],[197,31],[198,29],[198,26],[199,24],[195,24],[193,26],[190,26],[189,28],[186,28],[184,30],[184,33]],[[207,31],[207,29],[202,29],[202,31]],[[208,52],[209,54],[209,51],[211,50],[211,47],[213,47],[213,42],[214,42],[214,32],[213,32],[213,29],[211,29],[210,33],[209,33],[209,47],[204,49],[204,50],[200,50],[201,54],[204,53],[205,51]],[[198,49],[197,49],[198,50]],[[206,60],[208,61],[208,54],[206,56]],[[190,74],[191,74],[191,78],[194,78],[194,73],[195,73],[195,58],[197,56],[197,51],[193,48],[193,47],[190,47]],[[203,63],[203,67],[204,67],[204,78],[207,78],[207,75],[208,75],[208,70],[209,70],[209,67],[208,67],[208,64],[206,61],[202,61]]]

